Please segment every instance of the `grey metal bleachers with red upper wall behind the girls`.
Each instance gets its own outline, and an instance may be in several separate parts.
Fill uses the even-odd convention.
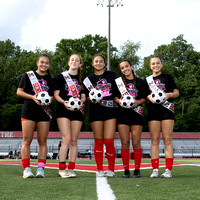
[[[49,158],[56,158],[58,144],[61,141],[59,132],[50,132],[47,140]],[[121,157],[121,141],[119,133],[115,134],[116,157]],[[22,145],[22,132],[0,132],[0,157],[12,157],[14,151],[20,152]],[[142,133],[141,147],[143,157],[150,158],[151,139],[149,133]],[[38,153],[37,133],[31,143],[31,155],[37,157]],[[199,158],[200,157],[200,133],[174,133],[173,147],[175,158]],[[92,132],[81,132],[78,140],[78,157],[93,157],[94,138]],[[130,152],[133,152],[130,141]],[[165,157],[164,144],[161,137],[159,156]]]

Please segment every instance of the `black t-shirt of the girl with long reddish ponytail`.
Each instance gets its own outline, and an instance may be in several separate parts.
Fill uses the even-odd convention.
[[[70,75],[71,79],[73,80],[74,84],[76,85],[76,88],[78,90],[79,97],[80,97],[80,95],[83,93],[83,91],[81,89],[81,83],[79,81],[79,77],[78,77],[78,75],[71,75],[71,74],[69,74],[69,75]],[[64,100],[69,100],[69,98],[72,97],[70,88],[68,87],[66,80],[64,79],[62,74],[59,74],[55,78],[55,90],[60,91],[59,96]]]

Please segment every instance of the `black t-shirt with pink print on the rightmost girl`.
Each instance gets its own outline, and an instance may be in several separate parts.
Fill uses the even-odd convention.
[[[160,90],[164,91],[165,93],[173,92],[174,89],[178,89],[176,83],[174,82],[174,79],[172,78],[170,74],[161,73],[159,76],[153,77],[153,80],[156,86]],[[148,96],[149,94],[151,94],[151,90],[148,86],[147,80],[145,83],[146,83],[145,85],[146,85],[146,91],[147,91],[147,96]],[[167,101],[172,102],[172,99],[168,99]],[[162,105],[153,104],[149,102],[149,106],[158,108]]]

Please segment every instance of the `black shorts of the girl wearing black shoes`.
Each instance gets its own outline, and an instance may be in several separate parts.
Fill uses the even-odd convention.
[[[133,109],[119,109],[117,116],[117,124],[125,124],[128,126],[144,124],[144,117],[136,113]]]

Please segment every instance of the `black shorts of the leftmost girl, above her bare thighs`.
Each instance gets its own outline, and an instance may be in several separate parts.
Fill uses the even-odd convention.
[[[37,112],[22,112],[21,118],[29,119],[34,122],[41,122],[41,121],[50,121],[49,115],[44,111],[37,111]]]

